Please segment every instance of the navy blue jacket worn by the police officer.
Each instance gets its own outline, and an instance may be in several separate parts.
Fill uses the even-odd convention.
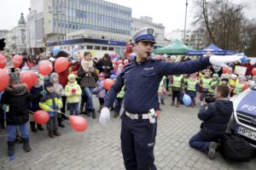
[[[106,96],[104,106],[113,105],[116,95],[125,85],[124,108],[134,114],[159,109],[158,88],[165,75],[190,74],[207,69],[209,58],[172,63],[149,58],[143,63],[132,60],[125,65]]]

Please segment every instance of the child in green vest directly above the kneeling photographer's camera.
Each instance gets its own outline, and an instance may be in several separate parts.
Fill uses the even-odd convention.
[[[205,76],[201,77],[201,82],[200,82],[200,88],[201,88],[201,105],[204,105],[204,99],[206,95],[209,93],[209,89],[211,88],[211,73],[209,71],[205,72]]]

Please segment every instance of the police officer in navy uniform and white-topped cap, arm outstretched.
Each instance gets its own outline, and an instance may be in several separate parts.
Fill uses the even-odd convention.
[[[117,77],[108,92],[99,121],[104,124],[110,117],[109,107],[116,95],[125,86],[124,108],[121,116],[121,149],[125,168],[128,170],[156,169],[154,165],[154,144],[159,109],[158,88],[165,75],[189,74],[207,69],[212,64],[224,65],[241,59],[233,56],[221,61],[223,56],[211,56],[182,63],[170,63],[150,58],[155,43],[156,31],[143,28],[135,33],[133,41],[137,56]],[[220,59],[220,60],[219,60]]]

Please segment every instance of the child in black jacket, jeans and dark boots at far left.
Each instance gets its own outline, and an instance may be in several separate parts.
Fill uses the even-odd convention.
[[[27,105],[30,101],[36,101],[42,97],[42,92],[37,95],[32,95],[27,91],[26,84],[20,81],[20,77],[12,73],[9,78],[9,87],[5,88],[2,95],[1,104],[3,111],[6,111],[9,105],[9,113],[6,114],[7,134],[8,134],[8,156],[15,155],[15,139],[16,130],[19,128],[23,149],[26,152],[31,151],[28,139],[27,122],[29,113]]]

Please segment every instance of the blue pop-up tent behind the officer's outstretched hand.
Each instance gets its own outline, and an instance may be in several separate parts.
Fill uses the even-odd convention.
[[[236,54],[236,52],[218,48],[213,43],[211,45],[209,45],[207,48],[204,48],[204,49],[201,49],[201,50],[189,50],[187,54],[188,55],[203,55],[203,54],[207,54],[208,51],[211,51],[212,54],[215,54],[215,55],[233,55],[233,54]]]

